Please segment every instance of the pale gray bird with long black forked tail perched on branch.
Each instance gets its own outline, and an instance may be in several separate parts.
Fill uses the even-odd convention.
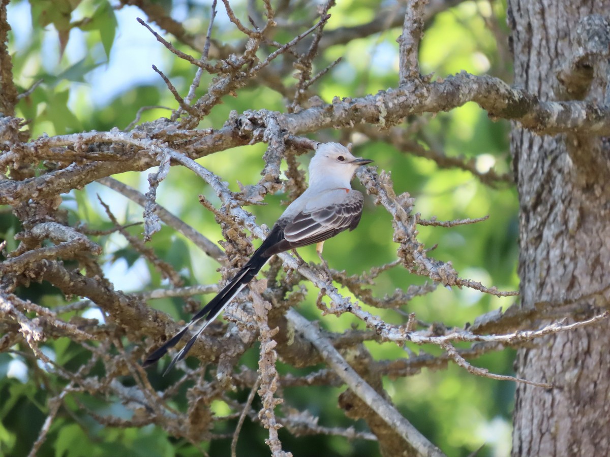
[[[356,168],[371,163],[372,160],[351,155],[339,143],[319,144],[309,163],[309,187],[293,201],[273,225],[271,232],[240,272],[207,303],[188,324],[169,341],[153,352],[143,363],[147,367],[159,360],[170,347],[180,341],[187,331],[203,319],[203,324],[190,341],[173,358],[165,373],[176,362],[187,355],[188,350],[208,324],[220,314],[226,305],[256,276],[274,254],[295,247],[318,243],[349,228],[354,230],[362,215],[364,197],[350,185]]]

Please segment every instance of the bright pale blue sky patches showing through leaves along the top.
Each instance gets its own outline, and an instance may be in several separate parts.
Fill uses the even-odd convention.
[[[209,6],[209,1],[207,0],[188,1],[192,4],[203,5],[204,7]],[[237,4],[238,2],[233,3]],[[115,2],[112,2],[112,4],[115,5]],[[73,21],[84,16],[85,13],[81,10],[86,7],[87,13],[90,14],[90,4],[83,2],[76,12],[73,13]],[[239,5],[235,9],[239,10]],[[27,1],[10,2],[7,13],[9,24],[14,34],[12,50],[13,52],[19,52],[27,47],[32,30],[30,4]],[[135,85],[154,83],[164,86],[164,83],[152,70],[151,66],[156,65],[164,71],[174,59],[174,56],[162,44],[157,42],[145,27],[137,22],[137,17],[146,19],[142,10],[134,6],[125,6],[115,10],[115,15],[118,22],[117,36],[110,52],[109,62],[106,62],[106,55],[101,51],[101,43],[99,43],[99,49],[94,51],[99,51],[95,54],[99,55],[99,62],[104,63],[85,76],[87,85],[82,85],[79,90],[71,91],[71,97],[79,97],[81,100],[82,97],[87,97],[87,99],[90,99],[91,104],[98,107],[107,104],[113,98]],[[188,30],[201,30],[203,32],[207,29],[207,19],[188,16],[187,0],[174,0],[171,16],[183,23]],[[164,35],[163,30],[159,29],[156,24],[151,23],[150,25],[154,30]],[[337,24],[329,25],[331,27],[337,26]],[[226,27],[232,27],[221,5],[217,7],[214,26],[217,34]],[[60,73],[67,66],[82,60],[87,52],[91,52],[85,42],[85,33],[80,29],[74,28],[70,32],[70,39],[65,49],[62,65],[59,65],[59,39],[57,32],[51,25],[47,26],[46,30],[41,62],[45,71],[50,74]],[[168,39],[171,40],[171,36]],[[381,43],[375,47],[375,52],[371,55],[371,59],[371,67],[378,68],[381,71],[382,69],[395,66],[397,54],[391,46]],[[348,62],[343,62],[336,69],[336,71],[342,70],[342,73],[345,73],[344,77],[353,77],[354,72],[350,65],[348,65]],[[193,69],[193,76],[195,76],[195,69]],[[34,74],[32,74],[32,77],[34,77]],[[73,107],[74,101],[71,100],[71,108]]]

